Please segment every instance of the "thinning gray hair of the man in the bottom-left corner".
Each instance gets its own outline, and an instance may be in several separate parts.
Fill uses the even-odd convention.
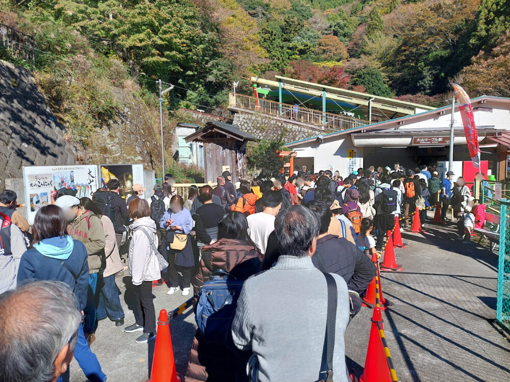
[[[78,301],[60,281],[34,281],[0,294],[0,375],[4,382],[48,382],[82,320]]]

